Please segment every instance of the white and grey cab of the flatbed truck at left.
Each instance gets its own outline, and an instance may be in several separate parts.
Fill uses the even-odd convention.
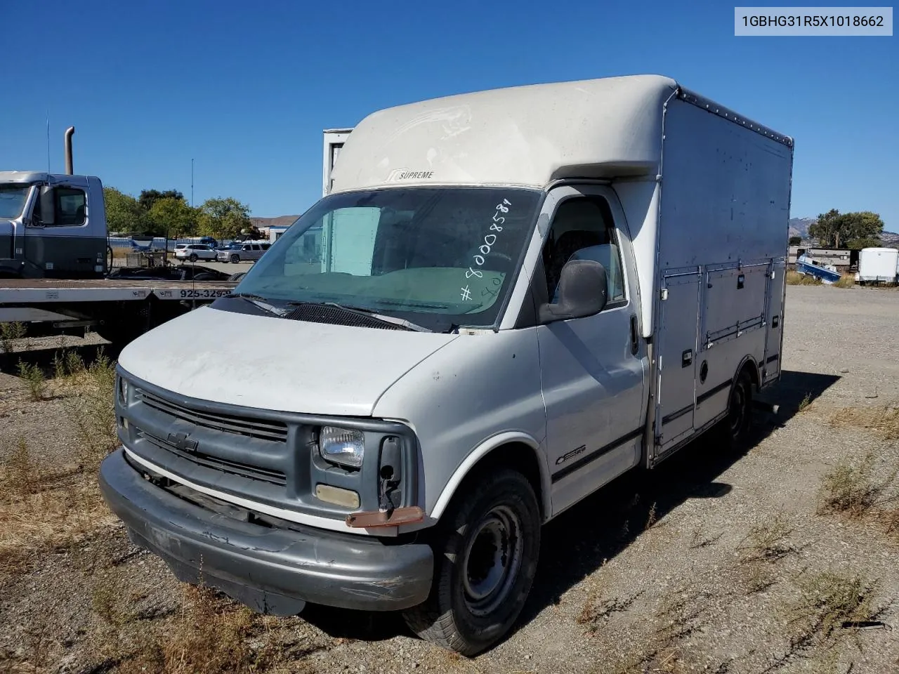
[[[0,278],[100,278],[107,248],[99,178],[0,172]]]

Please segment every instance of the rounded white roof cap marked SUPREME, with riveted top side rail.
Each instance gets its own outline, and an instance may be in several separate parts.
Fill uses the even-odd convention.
[[[396,184],[543,187],[570,177],[654,176],[663,104],[679,92],[711,112],[762,129],[660,75],[464,93],[370,114],[343,146],[332,191]]]

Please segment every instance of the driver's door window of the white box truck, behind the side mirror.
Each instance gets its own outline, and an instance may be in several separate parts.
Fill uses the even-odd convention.
[[[601,197],[575,197],[563,201],[556,209],[543,247],[547,297],[556,297],[562,268],[570,260],[601,262],[609,281],[609,304],[624,301],[624,274],[615,221],[609,203]]]

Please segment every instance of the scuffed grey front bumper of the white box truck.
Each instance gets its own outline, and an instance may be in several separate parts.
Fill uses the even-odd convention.
[[[122,448],[103,460],[100,488],[132,542],[162,557],[181,581],[201,580],[261,613],[294,615],[307,601],[396,610],[431,590],[428,545],[229,518],[148,482]]]

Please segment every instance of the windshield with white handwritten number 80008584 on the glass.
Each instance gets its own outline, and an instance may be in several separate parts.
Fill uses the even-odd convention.
[[[235,291],[334,302],[431,329],[491,326],[541,197],[518,188],[335,194],[299,217]]]

